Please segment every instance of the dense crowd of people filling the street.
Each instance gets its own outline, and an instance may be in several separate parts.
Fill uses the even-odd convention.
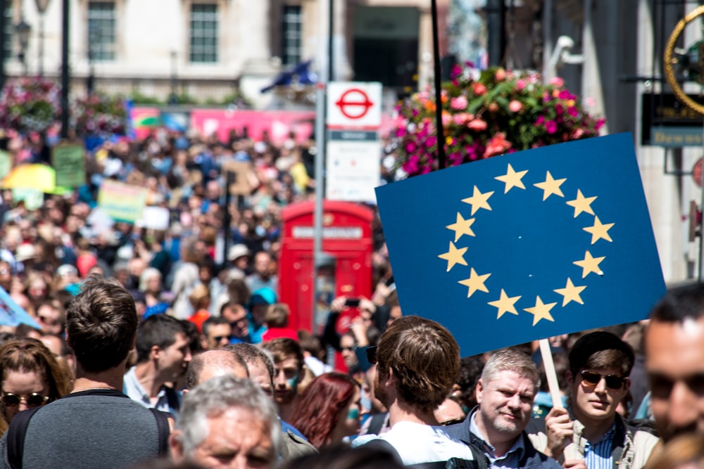
[[[292,328],[280,215],[311,197],[311,144],[109,141],[73,193],[3,192],[0,287],[36,323],[0,333],[0,468],[704,467],[700,285],[648,323],[551,338],[558,406],[536,344],[462,358],[451,330],[401,314],[378,219],[373,295]],[[228,160],[256,179],[229,206]],[[96,223],[104,179],[148,188],[169,229]]]

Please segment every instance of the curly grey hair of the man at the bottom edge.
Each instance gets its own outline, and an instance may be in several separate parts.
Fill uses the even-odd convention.
[[[177,439],[184,455],[192,456],[208,437],[208,418],[220,416],[231,408],[250,411],[265,423],[274,446],[275,462],[281,453],[283,437],[274,402],[255,383],[232,375],[206,380],[185,394],[176,421],[176,430],[180,430]]]

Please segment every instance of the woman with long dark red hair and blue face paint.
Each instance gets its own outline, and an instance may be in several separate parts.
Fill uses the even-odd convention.
[[[306,387],[294,405],[293,425],[321,449],[359,431],[360,386],[348,375],[324,373]]]

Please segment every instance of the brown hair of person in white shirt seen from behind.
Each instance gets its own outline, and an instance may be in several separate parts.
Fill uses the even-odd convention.
[[[388,377],[390,370],[403,401],[433,411],[460,375],[460,347],[441,324],[404,316],[391,323],[379,340],[379,378]]]

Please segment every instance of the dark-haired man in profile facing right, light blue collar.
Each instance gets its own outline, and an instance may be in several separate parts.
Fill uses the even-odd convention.
[[[150,316],[137,329],[137,364],[125,373],[124,392],[145,407],[176,415],[181,395],[167,383],[186,373],[191,361],[187,331],[164,314]]]

